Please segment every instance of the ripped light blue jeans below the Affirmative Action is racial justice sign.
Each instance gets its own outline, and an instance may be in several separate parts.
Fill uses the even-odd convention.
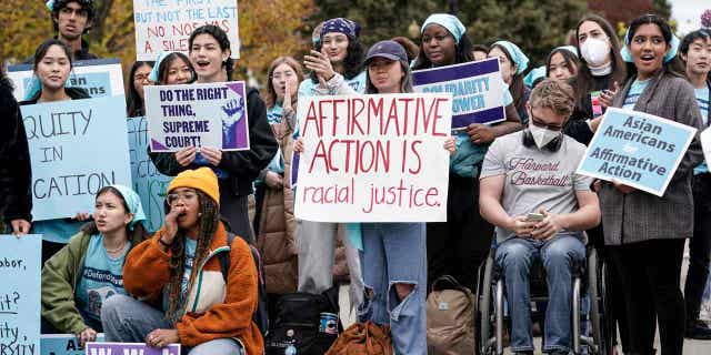
[[[365,300],[359,321],[390,325],[395,354],[427,354],[424,223],[362,223]],[[414,288],[400,300],[395,283]]]

